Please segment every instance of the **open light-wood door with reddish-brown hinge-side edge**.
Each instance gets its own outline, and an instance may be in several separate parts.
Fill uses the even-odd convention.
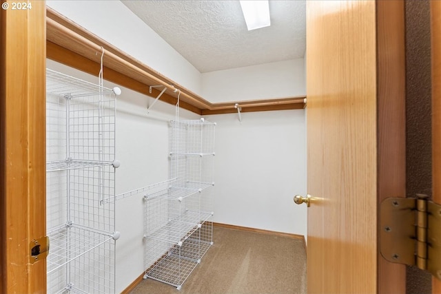
[[[309,293],[405,293],[377,247],[405,196],[403,1],[307,1]]]

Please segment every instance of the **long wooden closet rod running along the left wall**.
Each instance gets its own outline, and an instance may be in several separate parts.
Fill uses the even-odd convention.
[[[101,45],[98,45],[89,39],[86,39],[85,37],[81,36],[80,34],[77,34],[76,32],[73,32],[72,30],[66,28],[64,25],[61,25],[57,21],[54,21],[53,19],[46,18],[46,25],[48,30],[54,30],[57,32],[57,34],[63,36],[63,39],[69,40],[72,43],[77,43],[79,47],[88,48],[89,50],[93,50],[94,52],[101,52],[102,49]],[[54,42],[57,43],[57,42]],[[60,45],[60,44],[58,44]],[[64,47],[63,45],[61,45]],[[80,53],[81,54],[81,53]],[[116,54],[110,52],[109,50],[106,50],[104,48],[104,57],[107,59],[107,63],[105,63],[106,67],[112,68],[112,70],[118,70],[118,67],[122,66],[127,69],[130,69],[136,74],[139,74],[141,76],[145,76],[146,78],[149,78],[150,80],[154,81],[154,83],[158,83],[159,85],[162,85],[163,87],[167,88],[167,90],[170,90],[172,92],[175,92],[176,87],[173,85],[169,85],[165,81],[161,80],[160,78],[157,78],[156,76],[153,76],[152,74],[145,72],[144,70],[141,70],[141,68],[136,67],[132,63],[125,61],[121,57],[117,56]],[[112,64],[112,62],[114,64]],[[119,65],[119,66],[118,66]],[[188,100],[192,101],[194,104],[196,104],[198,107],[202,107],[203,109],[207,108],[207,105],[201,101],[198,101],[198,99],[194,98],[193,96],[190,96],[189,94],[186,94],[185,92],[181,93],[181,98],[184,96]],[[209,108],[209,107],[208,107]]]

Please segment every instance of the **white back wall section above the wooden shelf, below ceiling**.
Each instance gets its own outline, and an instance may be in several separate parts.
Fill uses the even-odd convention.
[[[202,96],[214,103],[305,94],[305,61],[303,59],[202,74]]]

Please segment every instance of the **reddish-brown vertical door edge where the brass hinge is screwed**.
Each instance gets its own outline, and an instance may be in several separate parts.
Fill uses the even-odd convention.
[[[377,191],[380,202],[406,196],[406,50],[404,1],[376,1]],[[380,230],[378,222],[378,238]],[[378,245],[378,293],[405,293],[406,267]]]

